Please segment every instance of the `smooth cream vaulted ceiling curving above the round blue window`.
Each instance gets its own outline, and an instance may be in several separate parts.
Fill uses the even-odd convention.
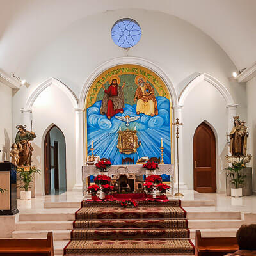
[[[0,0],[0,6],[0,69],[8,74],[26,65],[72,22],[131,8],[188,21],[211,36],[237,69],[256,61],[255,0]]]

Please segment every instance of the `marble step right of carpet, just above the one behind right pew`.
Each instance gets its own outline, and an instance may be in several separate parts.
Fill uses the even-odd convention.
[[[188,220],[188,228],[236,228],[243,224],[242,220]]]

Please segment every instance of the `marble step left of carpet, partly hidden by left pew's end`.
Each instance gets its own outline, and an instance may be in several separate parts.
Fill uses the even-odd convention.
[[[26,238],[45,238],[47,233],[51,230],[16,230],[12,233],[12,238],[26,239]],[[70,240],[71,230],[53,230],[54,241]]]

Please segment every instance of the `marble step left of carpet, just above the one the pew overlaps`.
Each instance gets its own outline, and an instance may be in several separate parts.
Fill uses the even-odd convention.
[[[73,221],[19,221],[16,230],[72,230]]]

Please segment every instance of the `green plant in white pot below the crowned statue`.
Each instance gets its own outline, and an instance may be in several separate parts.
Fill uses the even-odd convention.
[[[243,168],[245,168],[244,159],[242,159],[240,161],[240,158],[239,158],[238,162],[234,162],[234,163],[232,163],[232,166],[229,166],[228,168],[226,168],[226,170],[230,170],[230,173],[228,173],[228,175],[230,175],[230,177],[231,177],[231,184],[234,184],[234,186],[235,186],[235,188],[231,189],[232,197],[243,196],[243,189],[239,188],[243,184],[244,178],[246,177],[246,175],[243,175],[241,173],[241,170]],[[227,175],[227,177],[228,177],[228,175]]]

